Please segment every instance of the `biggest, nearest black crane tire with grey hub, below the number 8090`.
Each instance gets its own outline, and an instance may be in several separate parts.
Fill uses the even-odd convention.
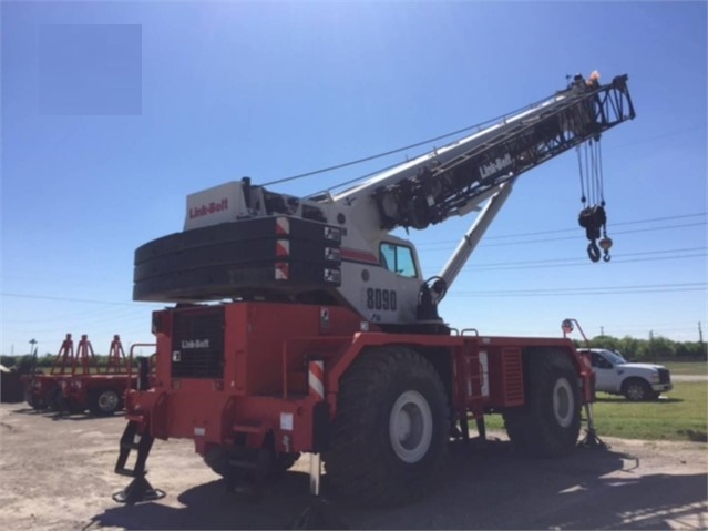
[[[340,380],[330,449],[337,493],[363,506],[419,500],[441,469],[449,433],[440,377],[406,347],[370,349]]]

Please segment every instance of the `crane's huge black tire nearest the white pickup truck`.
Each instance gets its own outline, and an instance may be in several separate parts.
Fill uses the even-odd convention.
[[[526,404],[504,412],[514,447],[535,457],[561,457],[577,445],[581,392],[577,370],[563,353],[524,355]]]

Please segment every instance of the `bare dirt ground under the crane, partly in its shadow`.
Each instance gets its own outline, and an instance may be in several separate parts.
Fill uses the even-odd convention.
[[[191,441],[155,441],[148,480],[167,496],[122,506],[111,499],[124,419],[54,420],[0,405],[0,529],[286,529],[308,507],[308,458],[264,498],[226,491]],[[607,438],[561,460],[513,452],[501,433],[486,447],[455,443],[442,479],[413,506],[365,510],[332,500],[349,529],[708,529],[708,452],[699,442]],[[326,489],[326,482],[325,487]]]

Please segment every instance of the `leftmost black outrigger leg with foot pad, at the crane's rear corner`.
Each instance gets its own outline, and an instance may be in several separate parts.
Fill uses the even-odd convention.
[[[113,501],[119,503],[140,503],[142,501],[160,500],[165,497],[163,490],[153,488],[145,479],[147,473],[145,462],[155,438],[147,429],[142,435],[138,435],[137,428],[136,420],[129,420],[121,437],[121,449],[115,463],[115,473],[133,478],[133,481],[125,489],[113,494]],[[137,441],[136,438],[138,439]],[[137,450],[137,458],[134,468],[129,469],[126,463],[132,450]]]

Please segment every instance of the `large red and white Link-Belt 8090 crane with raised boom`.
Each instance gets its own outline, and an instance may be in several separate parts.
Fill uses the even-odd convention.
[[[299,198],[245,177],[188,196],[184,231],[135,252],[134,299],[176,305],[153,314],[154,367],[142,360],[126,392],[115,471],[135,479],[114,499],[161,494],[145,480],[155,438],[193,439],[232,484],[287,469],[299,452],[312,452],[318,480],[321,455],[336,490],[374,504],[422,496],[451,436],[469,439],[474,419],[484,438],[488,413],[503,416],[523,451],[571,451],[594,399],[573,344],[458,331],[437,308],[520,174],[634,119],[626,82],[577,75],[336,195]],[[594,261],[603,206],[579,218]],[[472,211],[432,278],[390,234]]]

